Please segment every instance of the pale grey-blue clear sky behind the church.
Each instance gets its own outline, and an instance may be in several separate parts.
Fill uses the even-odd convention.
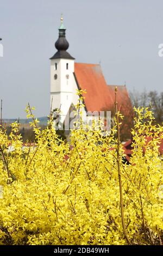
[[[68,52],[100,63],[108,84],[162,92],[162,0],[0,0],[0,99],[3,118],[49,114],[50,60],[64,15]]]

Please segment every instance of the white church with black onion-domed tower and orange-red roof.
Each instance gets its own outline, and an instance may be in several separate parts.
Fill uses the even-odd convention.
[[[55,42],[57,52],[51,60],[51,108],[60,109],[61,121],[64,122],[72,105],[78,102],[77,89],[86,91],[84,94],[84,111],[112,111],[115,102],[115,87],[106,84],[99,64],[77,63],[67,52],[66,28],[61,17],[59,38]],[[125,85],[117,86],[118,108],[128,113],[131,102]],[[53,99],[53,100],[52,100]]]

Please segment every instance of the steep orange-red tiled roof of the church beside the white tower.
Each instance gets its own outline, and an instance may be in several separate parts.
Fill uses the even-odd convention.
[[[74,74],[79,89],[86,90],[83,96],[87,111],[111,110],[114,107],[116,86],[107,86],[99,64],[75,63]],[[118,106],[131,107],[126,86],[117,88]]]

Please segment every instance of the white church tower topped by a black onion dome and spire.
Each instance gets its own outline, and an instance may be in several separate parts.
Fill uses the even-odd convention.
[[[61,121],[65,120],[73,99],[74,58],[66,51],[68,46],[66,28],[61,17],[59,38],[55,42],[55,48],[58,51],[50,58],[52,110],[60,108]]]

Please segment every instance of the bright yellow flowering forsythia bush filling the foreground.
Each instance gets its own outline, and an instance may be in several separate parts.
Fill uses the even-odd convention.
[[[22,149],[16,122],[9,138],[0,131],[0,244],[127,244],[121,222],[117,125],[104,137],[100,130],[85,130],[81,121],[68,143],[59,139],[52,120],[41,131],[32,109],[26,110],[33,118],[35,145]],[[135,111],[130,164],[123,162],[120,147],[124,223],[130,244],[160,245],[162,127],[152,125],[148,108]],[[152,136],[148,144],[146,136]]]

